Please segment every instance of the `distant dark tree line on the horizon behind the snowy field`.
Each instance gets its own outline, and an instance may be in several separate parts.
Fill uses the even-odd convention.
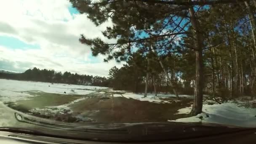
[[[109,80],[106,77],[93,75],[79,75],[70,72],[56,72],[48,69],[27,69],[23,73],[0,73],[0,78],[13,80],[29,80],[48,83],[67,83],[75,85],[93,85],[93,86],[109,86]]]

